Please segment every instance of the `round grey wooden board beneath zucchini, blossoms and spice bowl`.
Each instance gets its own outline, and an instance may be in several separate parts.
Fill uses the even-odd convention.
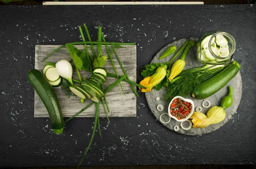
[[[198,38],[190,38],[192,40],[194,40],[194,42],[196,43],[198,41]],[[175,45],[177,47],[177,50],[186,42],[186,40],[188,39],[180,39],[177,40],[175,42],[170,43],[169,45],[166,45],[163,49],[161,49],[156,56],[154,56],[154,58],[152,59],[151,63],[165,63],[168,62],[172,56],[168,56],[164,59],[159,60],[159,56],[171,45]],[[199,67],[199,66],[203,66],[203,64],[201,64],[201,62],[199,62],[195,56],[196,54],[196,45],[194,47],[192,47],[187,56],[186,56],[186,66],[184,68],[185,69],[190,69],[190,68],[195,68],[195,67]],[[180,54],[181,55],[181,54]],[[177,58],[175,60],[177,60],[178,58],[180,58],[180,55],[177,56]],[[192,98],[192,96],[189,97],[189,99],[191,99],[192,101],[194,101],[195,104],[195,108],[200,106],[202,107],[202,113],[207,113],[207,111],[209,110],[210,107],[214,106],[214,105],[220,105],[221,103],[221,99],[227,95],[228,93],[228,86],[232,86],[233,87],[233,104],[226,109],[226,118],[221,121],[218,124],[212,124],[209,125],[208,127],[205,128],[191,128],[190,130],[183,130],[180,127],[180,122],[176,121],[175,119],[171,119],[171,121],[168,124],[163,124],[164,126],[166,126],[167,128],[174,130],[174,127],[177,125],[179,126],[180,130],[178,130],[177,132],[180,134],[185,134],[185,135],[203,135],[209,132],[213,132],[215,130],[217,130],[218,128],[220,128],[221,126],[223,126],[228,120],[230,120],[230,118],[232,117],[233,114],[236,113],[236,110],[239,106],[240,100],[241,100],[241,95],[242,95],[242,81],[241,81],[241,73],[239,71],[239,73],[237,73],[237,75],[226,85],[224,86],[221,90],[219,90],[217,93],[215,93],[214,95],[208,97],[207,99],[203,99],[203,100],[196,100],[194,98]],[[148,106],[152,112],[152,114],[159,120],[159,117],[162,113],[168,113],[168,106],[169,103],[164,101],[164,96],[165,93],[167,92],[166,87],[163,87],[161,90],[157,91],[155,89],[153,89],[151,92],[147,92],[145,93],[147,102],[148,102]],[[156,98],[160,97],[160,100],[157,101]],[[186,97],[188,98],[188,97]],[[209,100],[211,102],[211,106],[209,108],[204,108],[202,106],[202,103],[204,100]],[[163,104],[164,106],[164,110],[163,111],[158,111],[157,110],[157,105],[158,104]],[[168,115],[163,115],[162,116],[163,121],[168,121],[169,117]],[[175,131],[176,132],[176,131]]]

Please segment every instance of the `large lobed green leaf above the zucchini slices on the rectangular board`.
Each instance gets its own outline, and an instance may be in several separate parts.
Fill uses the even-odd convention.
[[[66,44],[67,50],[70,53],[71,58],[73,59],[76,67],[81,71],[81,70],[90,70],[90,64],[91,61],[89,59],[89,56],[85,53],[80,51],[78,48],[75,46],[67,43]]]

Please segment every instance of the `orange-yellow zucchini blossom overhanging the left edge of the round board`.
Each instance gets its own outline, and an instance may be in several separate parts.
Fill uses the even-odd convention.
[[[147,87],[146,89],[140,88],[141,92],[150,92],[152,88],[160,83],[166,76],[166,68],[167,66],[164,65],[163,67],[158,67],[157,71],[152,75],[144,78],[140,85]]]

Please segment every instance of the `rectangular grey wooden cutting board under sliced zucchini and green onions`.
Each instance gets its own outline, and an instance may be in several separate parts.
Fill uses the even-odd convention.
[[[61,59],[70,60],[70,54],[67,51],[67,48],[61,48],[59,51],[55,52],[46,59],[44,62],[41,60],[47,56],[50,52],[54,51],[60,45],[36,45],[35,46],[35,69],[40,71],[43,70],[46,62],[58,62]],[[84,45],[75,45],[78,49],[84,49]],[[124,45],[125,48],[115,49],[116,53],[119,56],[120,61],[122,62],[123,67],[126,70],[126,73],[129,76],[129,79],[133,82],[136,82],[136,45]],[[109,46],[111,48],[111,46]],[[97,51],[97,48],[95,48]],[[91,51],[89,50],[89,53]],[[107,55],[105,46],[102,45],[102,55]],[[116,71],[119,76],[123,75],[123,71],[119,66],[119,63],[115,55],[112,55],[113,62],[116,67]],[[73,64],[72,64],[73,65]],[[111,65],[110,59],[108,58],[107,63],[104,65],[104,68],[109,73],[114,73],[113,67]],[[86,79],[90,78],[90,73],[82,71],[81,76]],[[76,73],[76,70],[73,70],[73,78],[79,79]],[[107,82],[104,83],[104,89],[108,88],[113,84],[117,79],[112,77],[107,77]],[[125,91],[125,95],[121,90],[120,85],[116,85],[110,92],[105,96],[108,102],[110,113],[108,117],[136,117],[136,96],[131,90],[131,86],[127,82],[121,82],[122,88]],[[135,87],[135,86],[134,86]],[[135,87],[136,88],[136,87]],[[58,97],[58,100],[61,105],[61,110],[64,117],[71,117],[75,113],[83,109],[87,104],[91,102],[90,99],[85,99],[84,103],[80,102],[79,98],[70,96],[67,98],[64,92],[61,91],[61,87],[54,87],[54,91]],[[91,105],[83,113],[80,113],[76,117],[94,117],[95,116],[95,106]],[[99,116],[106,117],[104,108],[100,103],[99,107]],[[49,117],[46,108],[44,107],[43,102],[39,98],[38,94],[35,92],[35,109],[34,117]]]

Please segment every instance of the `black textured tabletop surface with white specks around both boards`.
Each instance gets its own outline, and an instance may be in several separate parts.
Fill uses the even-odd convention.
[[[201,136],[161,125],[142,94],[137,118],[111,118],[109,124],[100,119],[103,139],[97,131],[82,166],[256,163],[255,5],[0,6],[0,167],[78,165],[93,118],[74,118],[64,134],[55,135],[48,118],[33,117],[34,90],[26,75],[34,68],[35,45],[80,41],[82,23],[93,39],[102,25],[108,41],[137,43],[137,82],[165,45],[204,31],[227,31],[237,41],[234,59],[243,82],[233,118]]]

